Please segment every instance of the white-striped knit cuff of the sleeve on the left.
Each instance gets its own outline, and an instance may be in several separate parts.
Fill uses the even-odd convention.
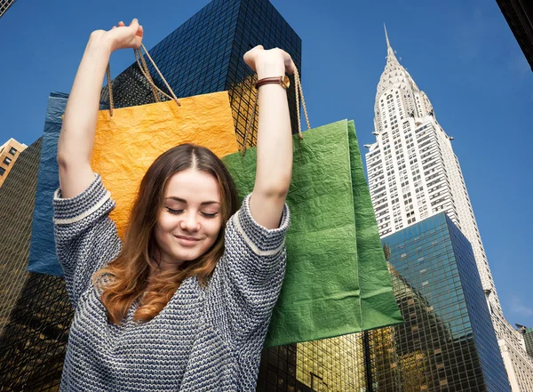
[[[68,225],[96,212],[111,197],[104,187],[99,174],[94,173],[94,181],[81,194],[72,198],[62,198],[61,189],[58,188],[53,194],[54,223],[56,225]]]

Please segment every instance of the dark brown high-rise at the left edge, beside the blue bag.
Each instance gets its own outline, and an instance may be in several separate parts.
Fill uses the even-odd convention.
[[[73,314],[62,278],[26,270],[42,141],[20,153],[0,188],[2,391],[57,390]]]

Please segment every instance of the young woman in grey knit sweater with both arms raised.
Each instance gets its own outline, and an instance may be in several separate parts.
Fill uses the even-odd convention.
[[[287,95],[279,83],[259,87],[256,181],[240,208],[219,158],[181,145],[148,169],[122,243],[91,150],[109,56],[138,48],[142,36],[137,20],[94,31],[65,112],[53,203],[76,313],[61,391],[255,390],[285,270]],[[294,67],[286,52],[261,46],[244,61],[259,80]]]

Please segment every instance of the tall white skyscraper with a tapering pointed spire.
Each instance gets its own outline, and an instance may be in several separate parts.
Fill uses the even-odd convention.
[[[386,46],[386,67],[374,106],[376,141],[366,146],[370,196],[379,234],[390,236],[415,222],[446,212],[472,244],[512,385],[515,372],[520,373],[517,380],[533,380],[533,362],[524,352],[520,333],[505,321],[497,297],[465,180],[451,146],[453,137],[444,132],[426,93],[396,59],[387,34]],[[529,390],[519,387],[522,384],[517,381],[513,392]],[[533,385],[530,388],[533,390]]]

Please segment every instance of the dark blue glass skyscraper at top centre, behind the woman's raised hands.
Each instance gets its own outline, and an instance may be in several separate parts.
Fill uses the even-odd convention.
[[[256,76],[244,63],[243,55],[259,44],[265,49],[279,47],[289,52],[301,70],[301,39],[267,0],[213,0],[149,53],[178,98],[228,91],[237,140],[243,143],[256,99]],[[168,93],[152,63],[147,60],[147,65],[155,84]],[[101,96],[104,102],[107,94],[105,88]],[[294,89],[290,88],[288,94],[292,130],[297,132]],[[137,63],[115,77],[113,100],[115,108],[155,101]],[[249,141],[255,144],[255,133]]]

